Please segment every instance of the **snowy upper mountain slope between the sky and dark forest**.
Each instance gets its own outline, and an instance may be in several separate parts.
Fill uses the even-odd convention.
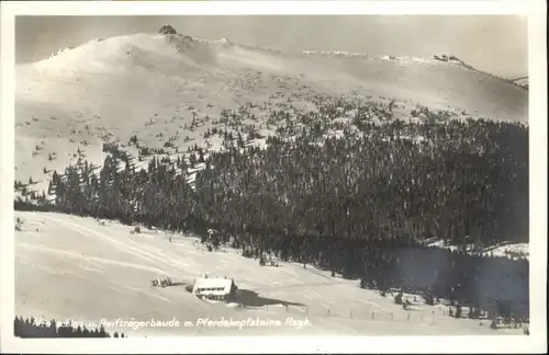
[[[101,141],[137,135],[152,147],[204,146],[222,110],[247,105],[269,134],[271,110],[311,111],[318,94],[396,102],[395,118],[418,103],[462,117],[527,122],[527,91],[462,65],[363,54],[284,54],[181,35],[96,39],[16,68],[15,178],[47,187],[85,150],[99,164]],[[189,129],[193,118],[200,121]],[[213,139],[212,139],[213,140]],[[42,144],[43,141],[47,141]],[[216,142],[213,141],[213,149]],[[40,148],[38,148],[40,147]],[[49,157],[53,154],[54,157]]]

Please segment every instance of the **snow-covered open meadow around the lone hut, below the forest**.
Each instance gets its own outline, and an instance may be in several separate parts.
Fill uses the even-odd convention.
[[[15,313],[63,321],[116,322],[111,331],[131,335],[435,335],[522,334],[493,331],[486,320],[453,319],[446,306],[427,306],[421,297],[408,310],[393,297],[361,289],[357,280],[312,266],[280,262],[260,266],[237,251],[208,252],[192,236],[98,222],[51,213],[21,213],[15,232]],[[171,242],[169,242],[171,237]],[[247,307],[208,302],[186,290],[201,275],[232,277]],[[169,276],[171,287],[150,286]],[[288,306],[288,307],[285,307]],[[262,321],[270,325],[226,327],[212,321]],[[121,327],[121,321],[169,321],[180,327]],[[276,322],[280,322],[276,324]],[[187,323],[186,323],[187,322]],[[190,323],[189,323],[190,322]]]

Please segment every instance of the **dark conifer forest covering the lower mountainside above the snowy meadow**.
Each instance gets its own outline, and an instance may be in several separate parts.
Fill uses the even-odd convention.
[[[352,125],[328,135],[343,105],[357,111]],[[528,242],[528,127],[445,119],[425,107],[417,122],[379,123],[370,119],[377,110],[337,103],[272,111],[267,125],[277,128],[268,137],[243,124],[242,112],[224,111],[224,125],[204,134],[222,138],[222,149],[177,157],[169,145],[141,145],[138,134],[127,142],[138,157],[105,141],[101,167],[81,160],[55,171],[42,195],[15,182],[23,197],[14,207],[192,232],[209,250],[227,244],[246,257],[314,265],[382,294],[448,299],[471,318],[483,310],[526,321],[528,261],[481,250]],[[248,145],[261,137],[265,147]],[[148,168],[137,169],[144,159]],[[517,275],[513,285],[505,284],[509,274]],[[502,297],[494,283],[514,296]]]

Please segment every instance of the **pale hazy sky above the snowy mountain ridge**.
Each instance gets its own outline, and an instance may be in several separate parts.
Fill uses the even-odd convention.
[[[18,16],[15,60],[30,62],[99,37],[157,33],[281,50],[429,58],[453,54],[501,77],[528,75],[527,21],[516,15]]]

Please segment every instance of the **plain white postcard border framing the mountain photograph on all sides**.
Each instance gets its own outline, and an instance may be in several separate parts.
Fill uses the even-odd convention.
[[[1,3],[1,348],[40,353],[524,353],[547,351],[547,48],[545,1],[29,1]],[[13,336],[14,16],[213,14],[518,14],[529,23],[529,336],[209,336],[45,339]]]

